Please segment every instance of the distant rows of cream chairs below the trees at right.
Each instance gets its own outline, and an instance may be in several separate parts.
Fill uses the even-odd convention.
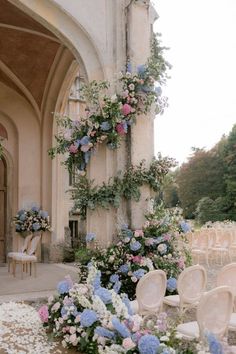
[[[228,260],[232,262],[236,255],[236,227],[201,228],[186,235],[193,259],[197,264],[204,259],[209,262]]]

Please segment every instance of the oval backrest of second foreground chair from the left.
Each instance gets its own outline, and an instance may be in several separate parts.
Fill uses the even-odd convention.
[[[199,301],[206,289],[207,273],[203,266],[197,264],[185,268],[177,280],[180,302],[195,303]]]

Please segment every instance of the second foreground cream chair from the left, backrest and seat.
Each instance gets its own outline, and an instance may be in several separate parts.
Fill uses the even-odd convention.
[[[196,307],[204,294],[207,284],[207,273],[203,266],[197,264],[185,268],[177,279],[177,295],[164,297],[164,304],[178,307],[181,313]]]

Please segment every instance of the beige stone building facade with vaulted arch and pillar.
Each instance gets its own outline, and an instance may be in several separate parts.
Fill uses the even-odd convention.
[[[17,249],[12,217],[21,208],[36,204],[49,212],[52,232],[44,233],[42,249],[63,242],[70,221],[79,226],[69,213],[63,157],[48,156],[57,129],[55,114],[78,119],[82,81],[112,83],[127,59],[133,67],[145,63],[156,13],[148,0],[0,0],[0,10],[0,131],[7,134],[0,161],[4,262],[7,252]],[[112,84],[110,90],[115,89]],[[101,184],[128,161],[150,161],[153,153],[153,119],[140,117],[128,148],[127,142],[116,151],[99,147],[89,177]],[[118,211],[88,212],[86,231],[107,245],[119,220],[140,227],[149,190],[144,188],[142,195],[139,203],[124,204]]]

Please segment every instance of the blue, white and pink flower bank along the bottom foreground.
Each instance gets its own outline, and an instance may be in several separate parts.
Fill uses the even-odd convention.
[[[166,312],[143,318],[134,314],[127,295],[102,287],[101,272],[93,266],[86,282],[73,283],[67,276],[57,292],[38,313],[65,348],[88,354],[235,353],[210,333],[204,342],[184,341]]]

